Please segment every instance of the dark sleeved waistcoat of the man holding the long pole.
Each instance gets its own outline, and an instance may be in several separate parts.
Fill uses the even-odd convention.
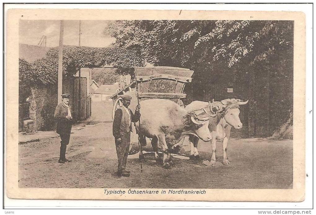
[[[129,125],[129,116],[128,113],[123,109],[124,107],[120,107],[115,111],[114,121],[113,121],[113,136],[115,138],[120,138],[120,131],[122,132],[130,132],[132,131],[132,126]],[[130,108],[127,108],[131,114],[131,122],[137,122],[140,118],[140,113],[135,111],[135,115],[131,111]]]

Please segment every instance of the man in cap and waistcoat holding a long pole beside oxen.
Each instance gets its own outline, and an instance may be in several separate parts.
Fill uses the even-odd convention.
[[[113,136],[115,137],[116,153],[118,155],[118,176],[129,177],[131,171],[125,170],[127,156],[130,149],[132,122],[140,118],[140,105],[136,106],[135,115],[128,108],[131,103],[131,96],[123,95],[123,106],[115,111],[113,121]]]

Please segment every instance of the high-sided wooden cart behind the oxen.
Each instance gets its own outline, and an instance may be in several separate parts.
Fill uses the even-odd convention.
[[[186,97],[183,93],[186,83],[192,81],[194,71],[179,67],[136,67],[136,78],[138,84],[138,98],[143,99],[169,99],[183,106],[182,98]],[[111,96],[113,99],[112,118],[117,108],[122,106],[121,95],[128,94],[132,96],[130,109],[135,110],[137,105],[137,92],[135,78],[131,78],[131,82],[116,94]],[[138,136],[133,126],[131,134],[131,145],[138,143]],[[130,147],[131,149],[131,147]]]

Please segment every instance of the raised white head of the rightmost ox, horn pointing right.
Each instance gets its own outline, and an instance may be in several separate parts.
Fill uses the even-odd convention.
[[[221,101],[224,107],[224,111],[226,113],[224,114],[224,119],[226,122],[233,126],[235,129],[241,129],[242,123],[240,122],[239,114],[239,106],[244,105],[248,103],[248,100],[246,102],[241,102],[240,99],[225,99]]]

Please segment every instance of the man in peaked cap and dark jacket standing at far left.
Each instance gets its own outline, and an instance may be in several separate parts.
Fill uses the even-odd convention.
[[[70,132],[72,126],[71,107],[69,104],[69,93],[64,93],[62,96],[62,102],[57,105],[55,109],[54,118],[57,121],[56,132],[60,135],[60,154],[58,163],[64,164],[65,162],[71,162],[66,159],[66,148],[69,144]]]

